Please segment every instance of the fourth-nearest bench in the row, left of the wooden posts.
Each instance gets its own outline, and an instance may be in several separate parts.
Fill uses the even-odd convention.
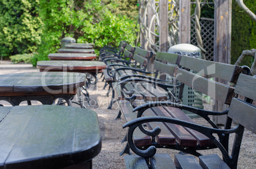
[[[118,58],[108,58],[104,60],[107,65],[107,69],[103,71],[103,74],[106,83],[109,85],[108,93],[112,90],[112,98],[108,109],[111,109],[113,99],[115,98],[113,81],[118,81],[118,78],[121,78],[122,76],[136,74],[136,72],[139,71],[145,72],[152,56],[152,51],[143,50],[139,47],[134,48],[127,44],[124,51],[124,60]]]

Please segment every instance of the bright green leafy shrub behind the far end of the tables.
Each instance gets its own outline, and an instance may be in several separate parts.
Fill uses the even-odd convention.
[[[48,53],[56,52],[60,40],[68,36],[75,37],[78,43],[94,43],[96,50],[104,45],[117,46],[121,40],[134,44],[137,25],[121,13],[111,13],[110,9],[117,7],[116,3],[104,5],[100,0],[40,0],[43,34],[32,64],[48,60]]]

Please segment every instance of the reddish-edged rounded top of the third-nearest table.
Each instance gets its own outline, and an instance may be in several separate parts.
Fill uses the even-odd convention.
[[[106,69],[104,62],[80,60],[46,60],[36,65],[40,71],[101,72]]]

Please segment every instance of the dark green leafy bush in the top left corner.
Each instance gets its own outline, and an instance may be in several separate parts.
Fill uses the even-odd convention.
[[[36,51],[41,41],[38,0],[0,0],[0,51],[3,57]]]

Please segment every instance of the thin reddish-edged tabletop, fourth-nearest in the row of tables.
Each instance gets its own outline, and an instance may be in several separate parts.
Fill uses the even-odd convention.
[[[96,54],[92,53],[50,53],[50,60],[94,60]]]

